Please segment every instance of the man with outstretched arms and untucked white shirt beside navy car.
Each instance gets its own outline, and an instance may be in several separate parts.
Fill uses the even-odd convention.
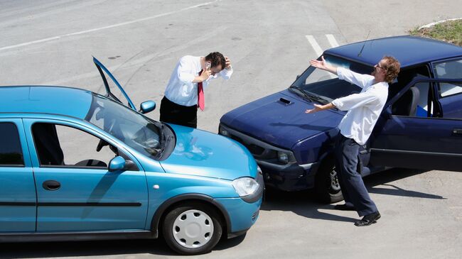
[[[369,226],[380,219],[380,213],[357,171],[358,153],[360,145],[365,145],[382,113],[388,97],[388,84],[397,77],[400,64],[394,57],[385,56],[375,65],[371,75],[333,67],[328,65],[324,57],[321,60],[311,60],[310,64],[362,88],[359,94],[335,99],[330,104],[314,104],[315,108],[308,109],[305,113],[313,114],[332,108],[348,111],[338,125],[340,134],[335,143],[335,168],[345,204],[335,205],[335,209],[358,211],[363,218],[356,221],[355,226]]]

